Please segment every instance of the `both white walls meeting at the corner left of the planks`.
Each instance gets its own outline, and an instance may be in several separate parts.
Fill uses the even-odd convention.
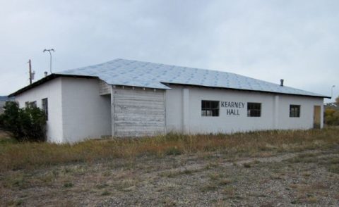
[[[97,79],[57,77],[16,96],[20,107],[26,101],[48,99],[48,142],[78,142],[111,135],[110,95],[100,96]]]

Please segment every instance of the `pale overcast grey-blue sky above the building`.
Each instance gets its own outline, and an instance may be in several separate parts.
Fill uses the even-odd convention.
[[[126,58],[228,71],[339,95],[339,1],[0,0],[0,95]],[[330,101],[325,99],[326,102]]]

